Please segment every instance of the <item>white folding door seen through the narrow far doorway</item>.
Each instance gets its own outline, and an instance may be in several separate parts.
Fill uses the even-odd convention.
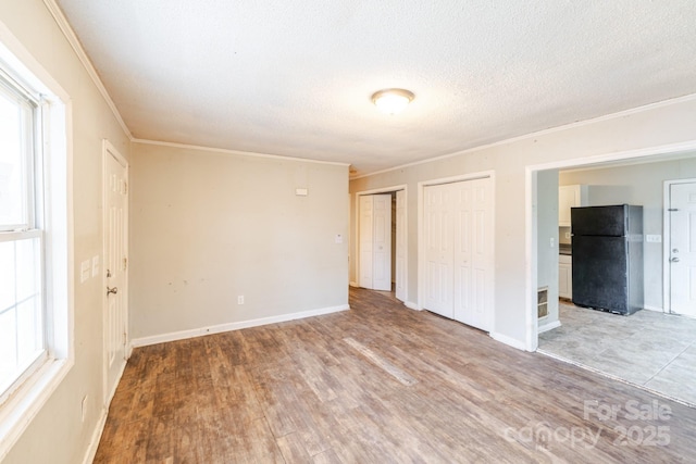
[[[391,290],[391,195],[360,197],[360,287]]]

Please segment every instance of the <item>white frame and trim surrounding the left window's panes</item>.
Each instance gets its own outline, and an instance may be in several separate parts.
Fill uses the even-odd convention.
[[[42,152],[44,296],[46,355],[0,404],[0,462],[61,385],[75,363],[74,353],[74,239],[72,212],[72,103],[70,96],[34,59],[10,29],[0,23],[0,62],[13,79],[39,103]]]

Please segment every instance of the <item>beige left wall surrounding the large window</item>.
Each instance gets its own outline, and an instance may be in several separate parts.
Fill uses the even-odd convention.
[[[73,208],[76,269],[102,254],[102,139],[129,156],[129,141],[41,0],[0,1],[0,22],[70,95],[73,108]],[[101,275],[79,284],[74,300],[75,365],[3,464],[83,461],[102,409]],[[87,415],[80,403],[87,396]]]

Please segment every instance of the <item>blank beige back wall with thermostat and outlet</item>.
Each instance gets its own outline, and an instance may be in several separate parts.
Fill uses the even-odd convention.
[[[347,308],[348,166],[144,143],[132,158],[136,344]]]

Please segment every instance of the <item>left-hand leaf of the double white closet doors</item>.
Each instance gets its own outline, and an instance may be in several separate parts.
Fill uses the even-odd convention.
[[[451,185],[424,188],[425,302],[424,308],[455,317]]]

